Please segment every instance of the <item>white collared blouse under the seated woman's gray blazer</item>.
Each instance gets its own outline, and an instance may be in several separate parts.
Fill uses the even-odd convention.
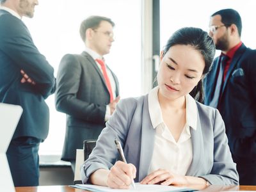
[[[161,168],[175,174],[186,175],[193,159],[190,127],[196,130],[196,102],[190,95],[185,96],[186,124],[176,142],[172,132],[164,124],[157,95],[158,90],[159,87],[157,86],[148,93],[149,115],[154,129],[156,129],[154,149],[152,149],[154,151],[148,173]]]

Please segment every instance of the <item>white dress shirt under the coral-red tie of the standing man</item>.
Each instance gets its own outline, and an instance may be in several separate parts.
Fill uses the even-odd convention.
[[[90,48],[88,48],[88,47],[85,47],[84,51],[88,52],[88,54],[90,54],[90,56],[92,56],[93,60],[97,60],[97,59],[99,59],[99,60],[104,60],[104,59],[102,58],[102,56],[100,56],[97,52],[93,51],[92,49],[90,49]],[[97,66],[99,67],[100,71],[102,72],[102,69],[101,69],[101,67],[100,67],[100,64],[99,64],[97,61],[95,61],[95,62],[97,63]],[[115,98],[116,98],[116,83],[115,83],[115,79],[114,79],[114,77],[113,77],[113,75],[112,75],[112,72],[109,70],[108,67],[106,67],[106,70],[107,70],[107,74],[108,74],[108,77],[109,77],[109,81],[110,81],[110,83],[111,83],[111,89],[112,89],[112,93],[113,93],[113,99],[115,99]],[[103,74],[103,72],[102,72],[102,74]],[[111,116],[111,111],[110,111],[109,106],[107,105],[107,106],[106,106],[105,118],[104,118],[105,121],[108,121],[109,118],[110,118],[110,116]]]

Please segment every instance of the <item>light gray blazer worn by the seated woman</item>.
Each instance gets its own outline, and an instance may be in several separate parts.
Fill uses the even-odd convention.
[[[236,164],[228,148],[225,125],[217,109],[197,104],[198,125],[191,131],[193,160],[186,175],[202,177],[211,184],[238,184]],[[115,138],[121,141],[128,163],[136,166],[136,182],[148,175],[154,136],[148,113],[148,95],[121,100],[106,124],[92,154],[81,166],[84,183],[99,168],[109,169],[118,159]]]

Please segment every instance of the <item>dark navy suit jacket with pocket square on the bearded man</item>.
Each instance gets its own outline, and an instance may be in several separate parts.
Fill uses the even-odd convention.
[[[207,105],[214,93],[218,60],[214,60],[211,72],[204,79]],[[256,162],[256,50],[242,44],[236,51],[221,95],[219,109],[234,161],[237,166],[253,164]]]

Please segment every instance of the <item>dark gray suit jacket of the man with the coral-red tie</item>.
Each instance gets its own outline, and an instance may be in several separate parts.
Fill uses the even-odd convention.
[[[112,72],[113,74],[113,72]],[[119,95],[118,80],[116,95]],[[67,54],[57,75],[56,109],[67,114],[63,160],[76,158],[84,140],[97,139],[105,127],[104,116],[110,96],[102,72],[87,52]]]

